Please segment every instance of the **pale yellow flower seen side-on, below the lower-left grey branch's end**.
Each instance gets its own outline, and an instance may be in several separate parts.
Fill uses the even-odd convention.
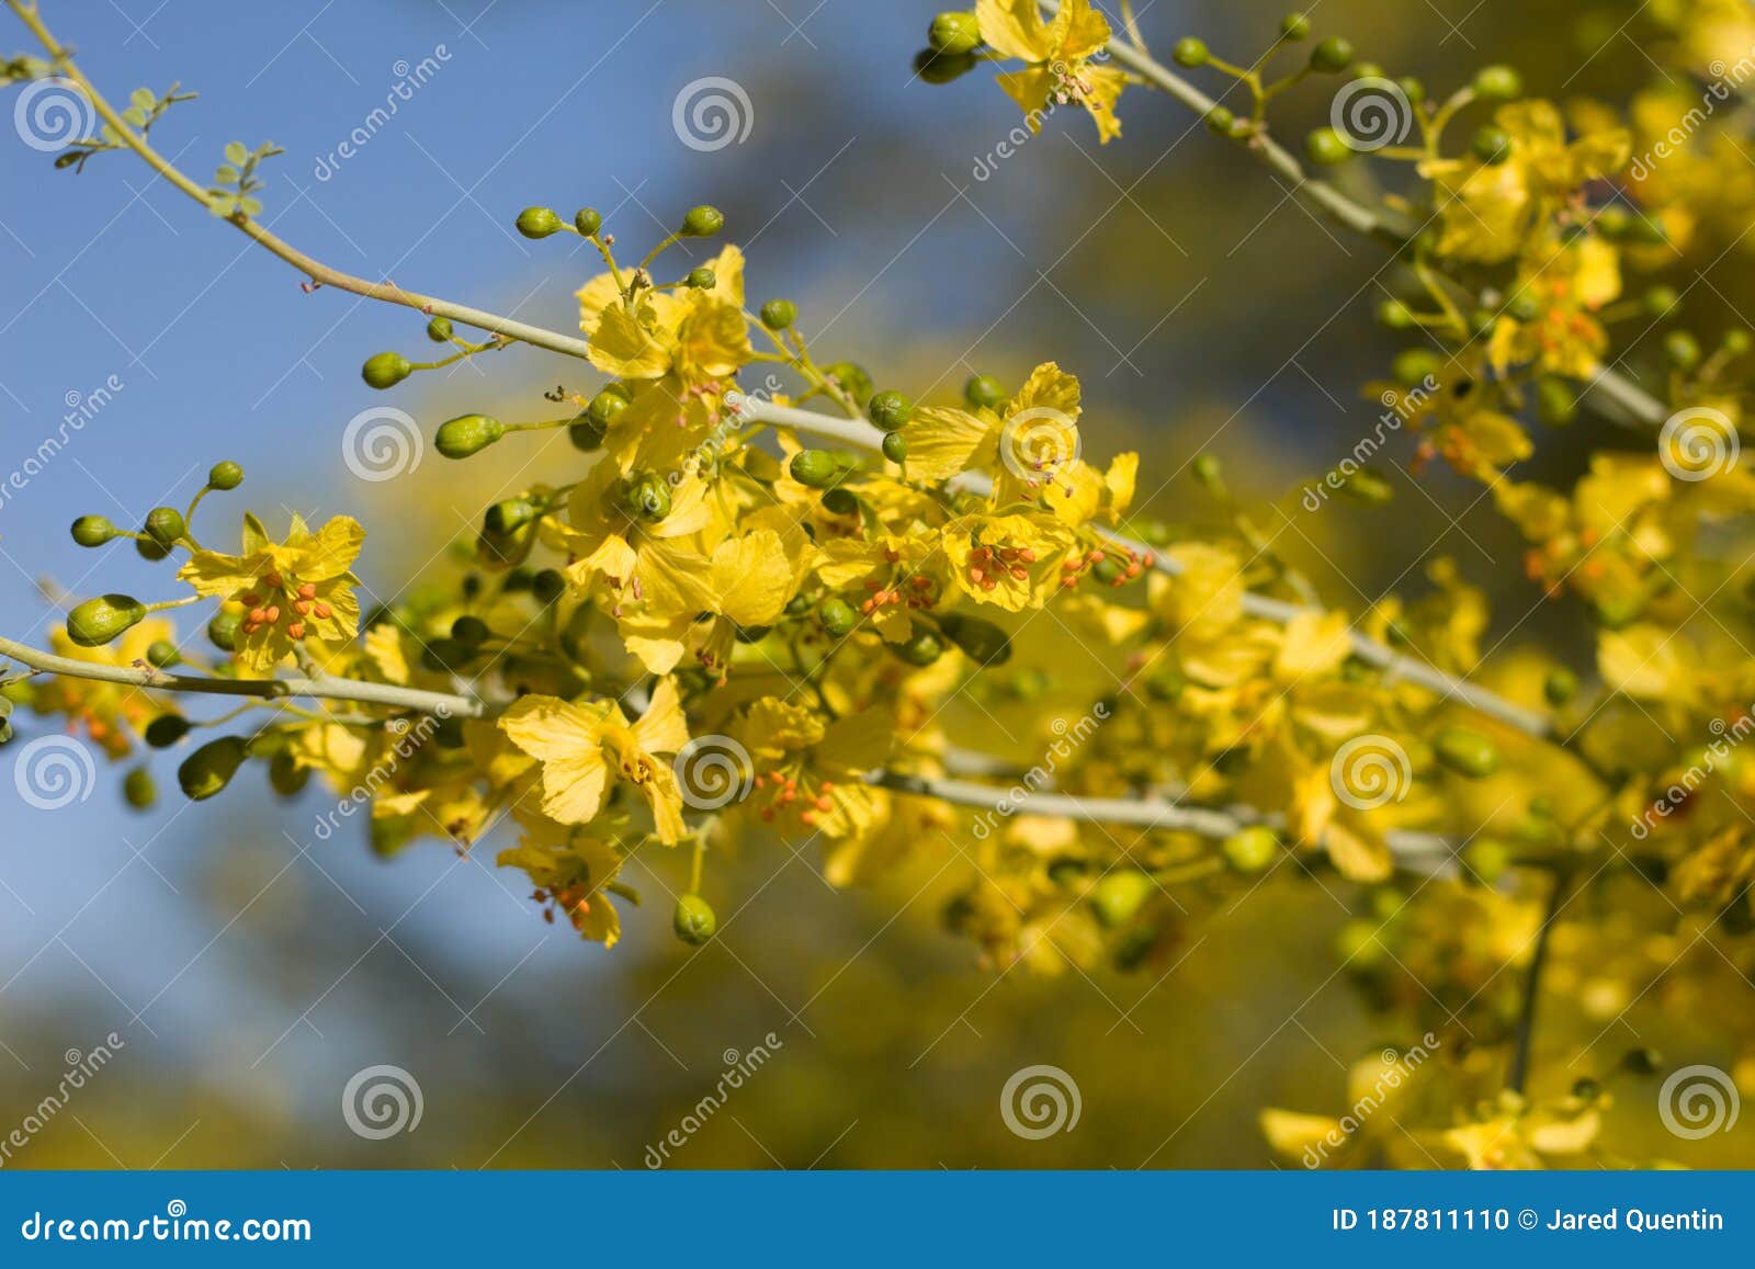
[[[572,704],[521,697],[500,718],[519,749],[542,764],[542,813],[563,825],[590,823],[612,781],[632,785],[653,813],[658,841],[683,837],[683,795],[670,758],[688,744],[676,681],[663,679],[639,721],[612,700]]]

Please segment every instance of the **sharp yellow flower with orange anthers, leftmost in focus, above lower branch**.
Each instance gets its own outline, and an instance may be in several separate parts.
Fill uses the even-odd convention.
[[[200,595],[239,604],[237,656],[253,674],[279,665],[302,641],[326,656],[360,630],[358,577],[347,565],[360,555],[365,530],[335,516],[312,534],[293,516],[284,542],[274,542],[261,521],[244,516],[242,555],[195,551],[177,572]]]

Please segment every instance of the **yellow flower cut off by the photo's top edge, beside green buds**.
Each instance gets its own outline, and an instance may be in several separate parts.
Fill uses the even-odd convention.
[[[979,0],[976,19],[981,39],[997,53],[1030,63],[999,77],[999,86],[1023,109],[1030,132],[1041,132],[1042,116],[1055,107],[1078,102],[1097,123],[1099,142],[1121,135],[1114,104],[1127,75],[1092,65],[1109,42],[1109,21],[1090,0],[1065,0],[1049,23],[1035,0]]]

